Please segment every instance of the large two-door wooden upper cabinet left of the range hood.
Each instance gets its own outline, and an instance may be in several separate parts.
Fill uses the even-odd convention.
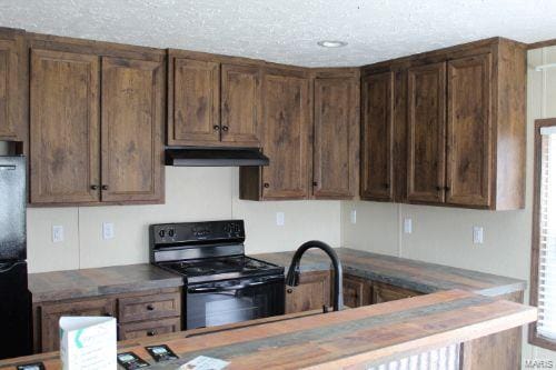
[[[34,34],[30,202],[163,202],[162,51]]]

